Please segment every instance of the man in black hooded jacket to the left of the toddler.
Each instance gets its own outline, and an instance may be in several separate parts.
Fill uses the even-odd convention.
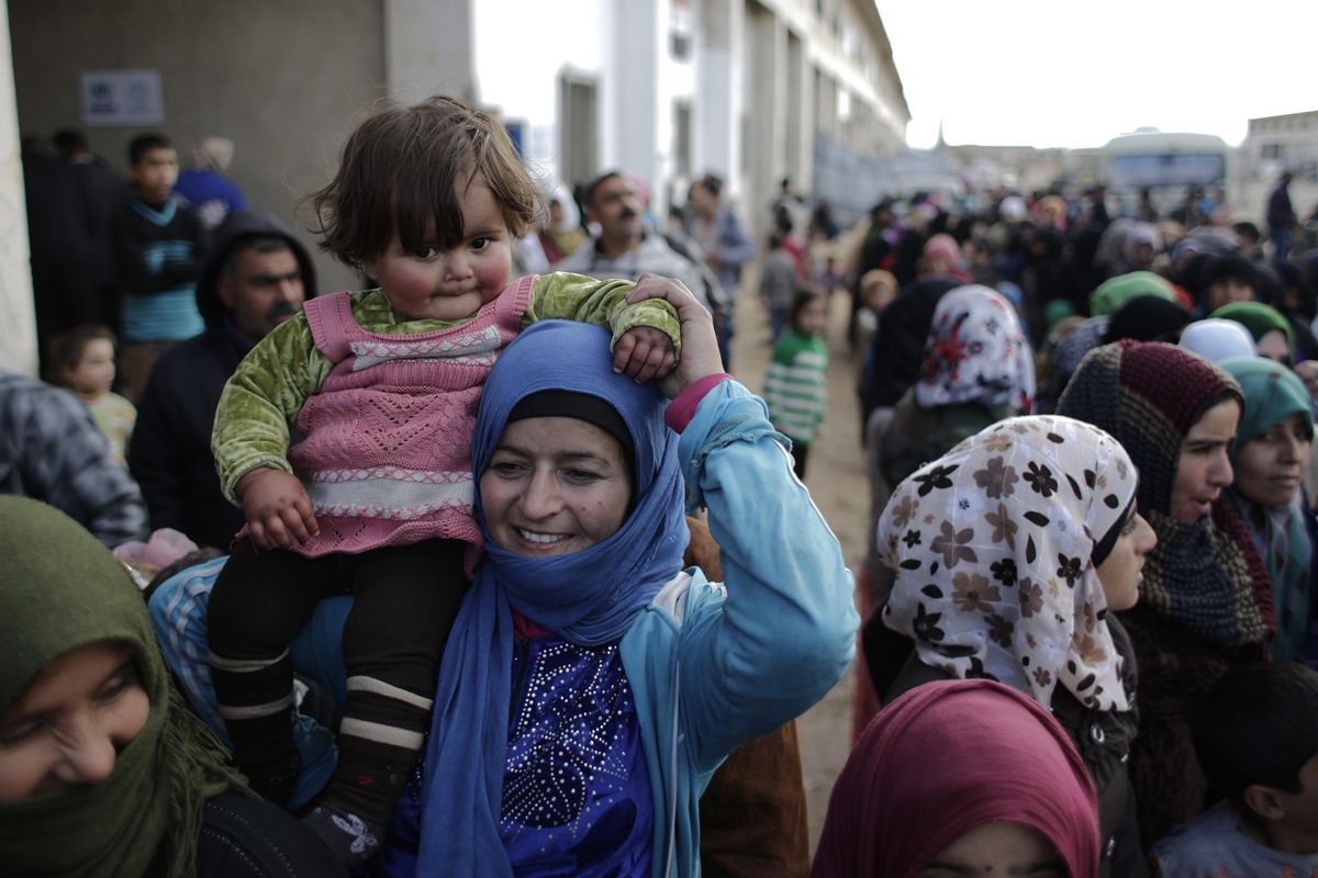
[[[196,284],[206,330],[157,363],[128,448],[153,529],[174,528],[199,545],[228,549],[244,519],[215,474],[215,408],[244,354],[311,296],[311,258],[273,216],[240,211],[215,232]]]

